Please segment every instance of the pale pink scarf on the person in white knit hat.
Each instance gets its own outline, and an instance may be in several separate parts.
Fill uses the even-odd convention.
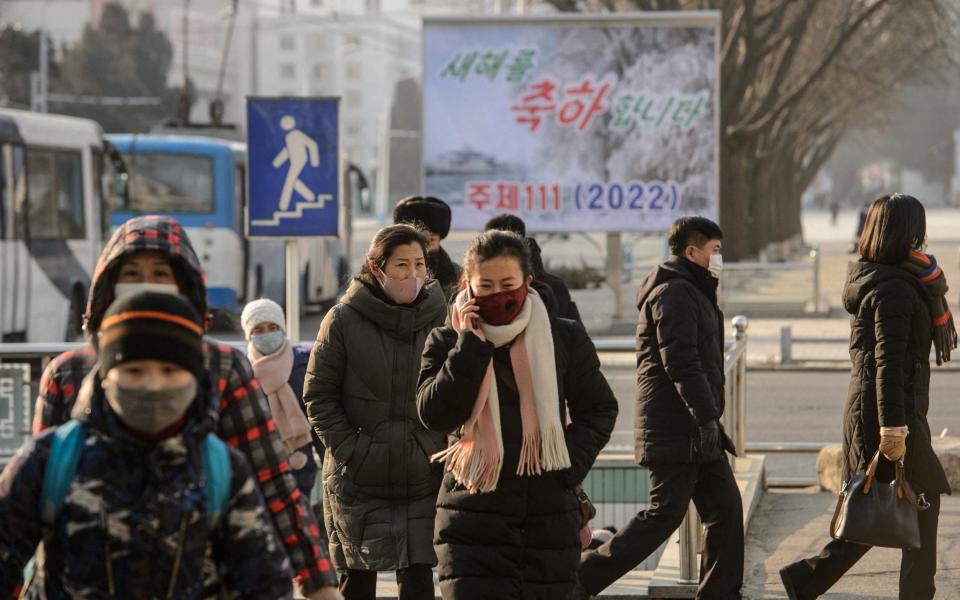
[[[261,355],[253,344],[247,346],[253,364],[253,373],[267,395],[270,414],[277,425],[280,439],[288,453],[310,443],[310,423],[300,409],[293,389],[288,383],[293,371],[293,348],[290,341],[284,340],[283,346],[273,354]]]

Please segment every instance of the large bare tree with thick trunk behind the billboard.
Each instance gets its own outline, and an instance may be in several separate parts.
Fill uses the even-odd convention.
[[[799,236],[800,195],[853,125],[949,63],[951,0],[544,0],[560,11],[720,10],[724,252]]]

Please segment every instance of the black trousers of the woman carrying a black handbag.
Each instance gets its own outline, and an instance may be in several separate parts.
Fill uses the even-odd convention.
[[[937,526],[940,522],[940,496],[932,495],[930,508],[918,513],[920,550],[904,550],[900,559],[900,598],[929,600],[937,588]],[[825,594],[850,568],[863,558],[871,546],[831,540],[823,552],[788,567],[797,596],[816,598]]]

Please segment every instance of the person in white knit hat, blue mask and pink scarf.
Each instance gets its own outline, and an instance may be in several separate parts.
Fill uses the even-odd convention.
[[[319,438],[314,440],[316,433],[303,405],[303,380],[310,351],[290,344],[285,322],[283,309],[268,298],[248,303],[240,315],[253,373],[270,402],[270,414],[289,453],[297,488],[309,498],[317,480],[313,449],[316,446],[323,456],[323,444]]]

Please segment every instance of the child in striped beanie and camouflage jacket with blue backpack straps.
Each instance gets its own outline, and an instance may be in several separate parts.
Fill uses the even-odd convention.
[[[210,433],[200,315],[179,295],[128,294],[99,340],[80,392],[89,409],[0,476],[0,594],[42,540],[25,597],[200,600],[209,555],[224,597],[289,598],[290,561],[250,465]]]

